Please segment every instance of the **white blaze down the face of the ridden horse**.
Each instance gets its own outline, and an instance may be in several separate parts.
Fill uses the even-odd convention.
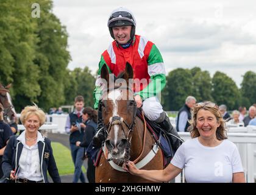
[[[113,116],[119,116],[118,113],[117,113],[118,112],[118,105],[117,105],[116,101],[118,101],[118,99],[121,99],[121,91],[120,90],[110,91],[110,93],[108,93],[108,98],[112,99],[112,101],[113,101]],[[115,146],[116,146],[116,143],[117,143],[117,140],[118,140],[119,126],[114,125],[114,130],[115,130],[114,141],[115,141]]]

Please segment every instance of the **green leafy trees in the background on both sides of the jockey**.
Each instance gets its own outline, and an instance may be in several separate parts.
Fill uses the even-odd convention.
[[[0,1],[0,82],[10,89],[17,112],[35,102],[50,107],[72,105],[77,95],[93,106],[95,78],[88,67],[69,70],[68,33],[52,13],[52,0],[41,0],[40,18],[33,18],[32,0]],[[241,89],[226,74],[213,78],[199,67],[177,68],[166,76],[165,110],[179,110],[187,96],[197,102],[226,104],[229,110],[256,103],[256,73],[243,76]]]

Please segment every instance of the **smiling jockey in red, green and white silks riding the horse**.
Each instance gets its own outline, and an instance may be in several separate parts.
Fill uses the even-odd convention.
[[[133,89],[137,107],[142,107],[147,118],[157,122],[166,132],[174,135],[169,136],[172,143],[177,141],[175,137],[179,137],[179,135],[176,129],[172,127],[168,115],[163,111],[156,96],[166,84],[165,65],[157,46],[145,37],[135,35],[136,20],[132,12],[123,7],[113,10],[108,18],[107,26],[114,41],[102,53],[99,62],[96,88],[93,93],[94,108],[98,108],[98,132],[93,138],[93,146],[101,147],[102,141],[105,140],[100,100],[102,95],[101,68],[105,64],[110,73],[118,76],[126,68],[126,62],[132,65],[133,79],[146,79],[146,86],[137,85]],[[176,151],[176,149],[174,150]]]

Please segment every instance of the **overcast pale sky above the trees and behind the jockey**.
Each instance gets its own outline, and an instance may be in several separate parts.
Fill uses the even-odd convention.
[[[53,0],[54,14],[68,31],[69,69],[88,66],[94,74],[113,41],[107,19],[126,7],[137,20],[136,34],[156,44],[168,73],[199,66],[211,76],[226,73],[240,87],[246,71],[256,72],[255,0]]]

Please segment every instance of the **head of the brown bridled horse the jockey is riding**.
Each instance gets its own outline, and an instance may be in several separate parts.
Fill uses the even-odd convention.
[[[107,139],[105,146],[108,154],[118,163],[129,159],[130,140],[135,125],[136,102],[131,89],[133,83],[132,66],[127,63],[124,73],[115,79],[108,73],[107,66],[102,66],[102,118]],[[129,82],[130,81],[130,82]]]

